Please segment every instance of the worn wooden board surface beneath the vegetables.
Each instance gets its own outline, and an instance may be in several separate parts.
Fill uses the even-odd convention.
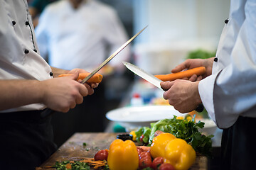
[[[117,133],[75,133],[65,142],[46,162],[41,165],[41,169],[46,166],[53,166],[56,161],[76,160],[78,157],[91,157],[100,149],[109,149],[113,140],[117,139]],[[86,143],[86,146],[83,145]],[[198,156],[196,163],[190,170],[207,169],[207,158]],[[52,170],[47,168],[47,170]]]

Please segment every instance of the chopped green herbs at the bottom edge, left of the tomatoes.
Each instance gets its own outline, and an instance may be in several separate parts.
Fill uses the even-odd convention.
[[[70,163],[70,161],[55,162],[53,168],[57,170],[68,170],[66,164],[71,164],[72,170],[90,170],[90,166],[87,163],[79,161],[75,161],[74,163]]]

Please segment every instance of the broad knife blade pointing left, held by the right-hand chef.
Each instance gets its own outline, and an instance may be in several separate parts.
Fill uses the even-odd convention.
[[[151,83],[154,86],[156,86],[159,89],[161,89],[161,86],[160,86],[160,83],[162,82],[161,79],[157,79],[156,77],[154,77],[154,75],[144,71],[143,69],[137,67],[134,64],[131,64],[129,62],[122,62],[122,63],[125,65],[125,67],[127,67],[127,69],[129,69],[132,72],[134,72],[134,74],[137,74],[139,77],[142,77],[146,81],[149,81],[149,83]],[[163,89],[161,89],[161,90],[163,90]]]

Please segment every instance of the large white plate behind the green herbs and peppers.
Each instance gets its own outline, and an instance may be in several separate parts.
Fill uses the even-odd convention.
[[[174,115],[184,116],[186,114],[176,111],[173,106],[139,106],[117,108],[109,111],[106,117],[119,123],[129,132],[139,127],[150,127],[150,123],[165,118],[174,118]]]

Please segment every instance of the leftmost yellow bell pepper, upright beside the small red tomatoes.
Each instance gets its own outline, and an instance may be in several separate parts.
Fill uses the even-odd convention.
[[[111,170],[136,170],[139,168],[137,147],[132,140],[114,140],[110,145],[107,164]]]

